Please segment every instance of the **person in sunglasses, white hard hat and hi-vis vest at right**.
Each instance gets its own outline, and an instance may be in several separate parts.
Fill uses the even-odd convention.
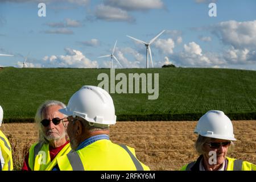
[[[227,157],[236,141],[230,119],[218,110],[210,110],[199,119],[195,133],[196,151],[200,156],[181,171],[256,171],[252,163]]]

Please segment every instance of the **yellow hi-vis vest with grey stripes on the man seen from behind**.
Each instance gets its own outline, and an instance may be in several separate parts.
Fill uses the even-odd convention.
[[[57,158],[61,171],[149,171],[135,156],[134,148],[101,139]]]

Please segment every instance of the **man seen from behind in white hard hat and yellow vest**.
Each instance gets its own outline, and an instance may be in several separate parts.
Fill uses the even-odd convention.
[[[110,140],[109,125],[116,123],[116,115],[113,100],[104,89],[82,86],[60,112],[68,115],[63,125],[73,152],[57,158],[53,170],[149,170],[136,158],[134,148]]]

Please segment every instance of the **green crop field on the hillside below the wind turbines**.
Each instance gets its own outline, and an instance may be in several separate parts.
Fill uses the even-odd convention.
[[[32,121],[46,100],[68,104],[82,85],[97,86],[99,73],[110,75],[110,69],[0,69],[0,105],[5,122]],[[256,71],[115,69],[117,73],[159,73],[157,100],[148,100],[148,94],[111,94],[119,121],[195,120],[211,109],[222,110],[232,119],[256,119]]]

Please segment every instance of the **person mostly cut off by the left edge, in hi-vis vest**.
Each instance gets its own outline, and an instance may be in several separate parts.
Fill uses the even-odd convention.
[[[0,126],[3,121],[3,109],[0,106]],[[0,171],[13,170],[13,157],[11,156],[11,145],[5,134],[0,130]]]

